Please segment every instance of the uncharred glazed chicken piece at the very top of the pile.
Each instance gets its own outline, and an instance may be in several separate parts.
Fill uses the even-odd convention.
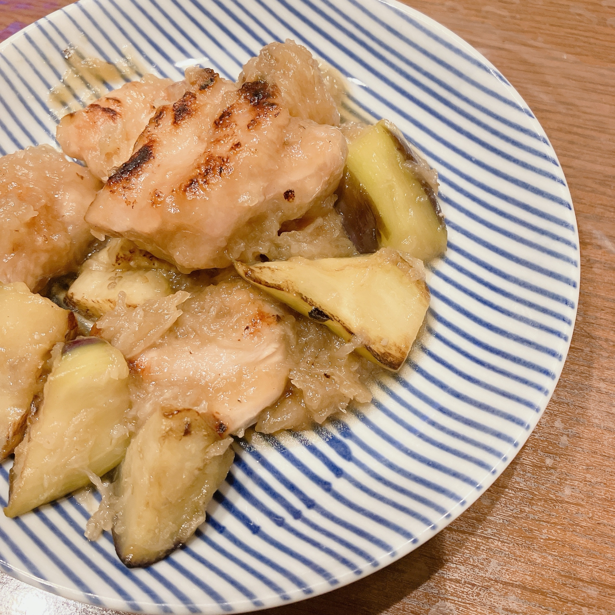
[[[339,126],[339,111],[330,88],[318,62],[303,45],[287,39],[264,46],[239,75],[239,85],[250,81],[276,85],[280,102],[293,117]]]

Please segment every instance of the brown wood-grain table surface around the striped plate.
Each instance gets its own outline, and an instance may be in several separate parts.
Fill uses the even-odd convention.
[[[0,39],[68,4],[0,0]],[[410,555],[273,615],[615,614],[615,0],[411,0],[496,65],[558,154],[581,237],[568,360],[528,443]],[[109,613],[0,578],[1,615]]]

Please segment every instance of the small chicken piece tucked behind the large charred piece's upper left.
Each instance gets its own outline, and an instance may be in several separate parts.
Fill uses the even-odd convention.
[[[65,115],[56,130],[58,143],[106,181],[130,158],[156,107],[175,102],[185,89],[185,82],[146,74],[141,81],[122,85],[85,109]]]

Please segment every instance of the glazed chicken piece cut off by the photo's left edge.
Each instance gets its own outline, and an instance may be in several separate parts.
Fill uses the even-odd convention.
[[[0,158],[0,282],[36,291],[76,268],[93,241],[83,216],[101,186],[49,145]]]

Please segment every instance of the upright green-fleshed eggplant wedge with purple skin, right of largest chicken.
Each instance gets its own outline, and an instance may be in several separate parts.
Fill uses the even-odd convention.
[[[437,173],[381,120],[349,145],[335,207],[360,253],[390,247],[429,261],[446,252],[437,190]]]

